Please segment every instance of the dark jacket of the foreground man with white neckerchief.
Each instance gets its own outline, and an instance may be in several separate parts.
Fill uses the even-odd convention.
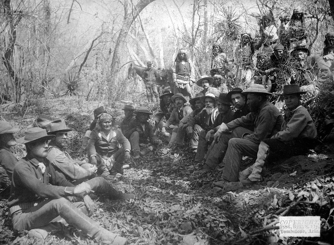
[[[38,166],[40,161],[45,165],[44,174]],[[37,160],[28,154],[15,164],[8,207],[15,206],[16,210],[20,210],[17,205],[21,203],[73,196],[74,188],[75,186],[68,182],[63,174],[54,170],[46,158]],[[13,212],[11,209],[11,213]]]

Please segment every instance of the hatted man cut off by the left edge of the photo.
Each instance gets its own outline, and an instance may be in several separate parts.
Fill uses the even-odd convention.
[[[17,157],[10,150],[16,145],[14,133],[20,131],[6,121],[0,121],[0,166],[6,170],[8,180],[12,179],[14,164],[18,161]],[[4,176],[1,176],[4,177]]]

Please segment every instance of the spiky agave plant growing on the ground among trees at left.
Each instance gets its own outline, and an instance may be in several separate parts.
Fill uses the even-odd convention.
[[[79,77],[77,72],[69,71],[63,75],[61,83],[64,91],[62,96],[79,96],[79,92],[82,90],[82,79]]]

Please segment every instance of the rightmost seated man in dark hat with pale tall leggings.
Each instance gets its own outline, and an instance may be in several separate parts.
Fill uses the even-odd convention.
[[[317,136],[317,129],[306,110],[301,105],[302,92],[297,84],[284,85],[283,94],[287,111],[281,131],[269,139],[263,139],[259,145],[255,163],[239,173],[239,180],[243,185],[253,185],[261,179],[263,165],[270,155],[271,159],[290,157],[304,154],[313,148],[313,141]]]

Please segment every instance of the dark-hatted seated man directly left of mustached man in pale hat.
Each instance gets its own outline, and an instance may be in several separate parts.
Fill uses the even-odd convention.
[[[151,125],[153,127],[153,132],[159,128],[160,130],[164,126],[165,122],[169,119],[170,114],[175,108],[174,103],[172,102],[172,96],[174,94],[165,90],[162,95],[160,95],[160,108],[158,113],[154,115]],[[162,120],[165,117],[165,120]]]

